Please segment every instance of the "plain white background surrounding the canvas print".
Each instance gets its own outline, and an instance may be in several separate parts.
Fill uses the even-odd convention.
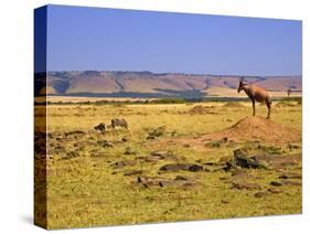
[[[10,0],[0,8],[0,232],[38,233],[31,224],[33,185],[33,9],[46,3],[209,13],[303,21],[303,214],[75,230],[92,233],[304,233],[309,220],[309,54],[307,0]],[[65,231],[60,231],[61,233]],[[73,232],[73,231],[66,231]]]

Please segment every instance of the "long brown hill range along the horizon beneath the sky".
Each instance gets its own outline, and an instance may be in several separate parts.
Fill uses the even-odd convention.
[[[47,76],[46,82],[45,76]],[[35,74],[35,95],[103,97],[236,96],[240,76],[151,72],[49,72]],[[301,76],[247,76],[270,92],[301,91]]]

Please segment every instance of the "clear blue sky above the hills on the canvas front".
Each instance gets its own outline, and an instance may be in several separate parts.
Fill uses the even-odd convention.
[[[301,21],[49,6],[49,71],[300,75]]]

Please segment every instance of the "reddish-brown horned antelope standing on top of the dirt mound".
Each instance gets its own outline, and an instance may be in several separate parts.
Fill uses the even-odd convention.
[[[255,85],[248,85],[244,77],[240,78],[239,81],[239,87],[238,87],[238,93],[240,91],[244,91],[246,95],[252,99],[253,104],[253,116],[255,116],[255,102],[258,103],[265,103],[267,108],[268,108],[268,116],[267,119],[270,118],[270,111],[271,111],[271,97],[267,91],[265,91],[261,87],[255,86]]]

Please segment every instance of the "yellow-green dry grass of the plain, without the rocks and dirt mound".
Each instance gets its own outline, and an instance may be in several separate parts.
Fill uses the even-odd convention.
[[[173,158],[153,162],[143,160],[156,150],[164,150],[175,156],[178,162],[217,162],[232,157],[236,148],[253,145],[236,141],[196,149],[191,143],[178,143],[178,139],[194,139],[221,131],[252,114],[248,102],[242,104],[244,108],[223,108],[222,103],[202,105],[213,106],[212,110],[217,115],[191,115],[189,110],[193,106],[185,104],[49,106],[49,228],[300,213],[301,187],[285,185],[279,194],[268,193],[257,199],[255,190],[233,189],[232,183],[223,180],[227,177],[223,170],[161,172],[161,166],[175,162]],[[41,108],[38,106],[36,113]],[[265,116],[266,108],[257,106],[257,115]],[[93,129],[116,117],[125,118],[129,130],[108,129],[103,135]],[[271,118],[301,130],[301,106],[275,109]],[[149,132],[160,126],[165,126],[164,132],[147,139]],[[76,130],[84,134],[73,132]],[[106,141],[113,147],[104,147]],[[301,153],[301,142],[296,148],[279,147],[285,155]],[[114,166],[126,160],[130,163],[122,168]],[[285,170],[300,172],[301,162]],[[183,176],[200,185],[145,188],[137,183],[138,176],[124,176],[128,171],[142,171],[142,177],[164,180]],[[280,172],[249,169],[248,173],[247,182],[259,183],[261,191],[267,191],[270,181]]]

